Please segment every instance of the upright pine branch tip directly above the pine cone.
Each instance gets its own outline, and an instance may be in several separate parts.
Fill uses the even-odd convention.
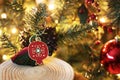
[[[36,9],[26,15],[25,27],[29,27],[32,32],[37,32],[43,28],[45,24],[45,16],[46,16],[46,5],[39,4]],[[41,27],[42,26],[42,27]]]

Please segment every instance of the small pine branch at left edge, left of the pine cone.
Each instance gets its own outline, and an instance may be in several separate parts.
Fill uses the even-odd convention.
[[[11,42],[5,33],[0,37],[0,41],[2,41],[3,48],[9,48],[11,49],[11,52],[16,53],[17,47]]]

